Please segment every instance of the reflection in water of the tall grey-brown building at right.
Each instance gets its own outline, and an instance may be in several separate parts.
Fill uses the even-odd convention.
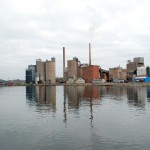
[[[128,87],[127,98],[129,105],[144,108],[146,99],[146,88],[144,87]]]

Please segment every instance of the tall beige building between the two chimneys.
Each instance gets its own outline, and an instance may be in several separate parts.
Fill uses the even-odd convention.
[[[67,76],[69,78],[78,78],[80,61],[77,57],[67,61]]]

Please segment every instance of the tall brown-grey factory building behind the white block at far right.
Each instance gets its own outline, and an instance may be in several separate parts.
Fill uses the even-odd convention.
[[[144,66],[144,57],[133,58],[127,62],[127,79],[132,80],[137,74],[137,67]]]

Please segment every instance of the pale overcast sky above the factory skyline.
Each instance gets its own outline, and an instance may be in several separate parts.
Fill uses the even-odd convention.
[[[66,60],[88,63],[89,42],[93,65],[150,65],[150,1],[0,0],[0,79],[25,79],[28,65],[51,57],[62,76],[62,47]]]

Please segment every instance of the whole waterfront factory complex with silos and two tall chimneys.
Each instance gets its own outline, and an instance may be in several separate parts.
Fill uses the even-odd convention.
[[[144,66],[144,58],[136,57],[133,61],[128,60],[126,68],[120,66],[102,69],[99,65],[91,63],[91,44],[89,43],[89,62],[81,63],[77,57],[72,60],[65,59],[65,47],[63,47],[63,77],[56,78],[56,61],[36,60],[36,65],[29,65],[26,69],[26,83],[32,84],[84,84],[84,83],[104,83],[104,82],[150,82],[150,67]]]

